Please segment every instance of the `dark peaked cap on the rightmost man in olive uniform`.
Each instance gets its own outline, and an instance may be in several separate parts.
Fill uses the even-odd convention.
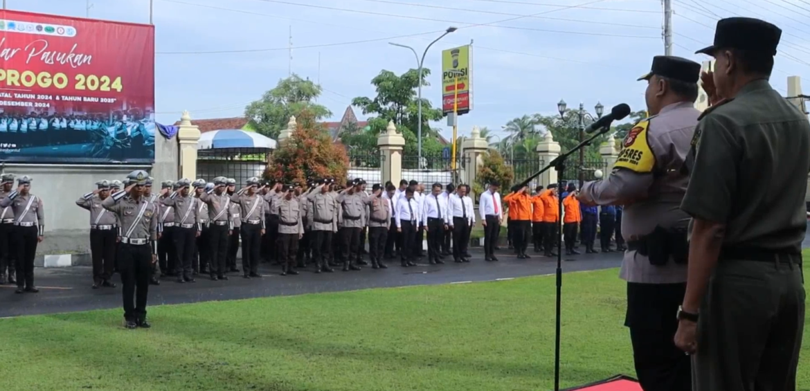
[[[782,29],[765,20],[754,18],[726,18],[717,21],[714,45],[695,52],[714,55],[718,49],[740,49],[755,53],[776,55],[782,38]]]

